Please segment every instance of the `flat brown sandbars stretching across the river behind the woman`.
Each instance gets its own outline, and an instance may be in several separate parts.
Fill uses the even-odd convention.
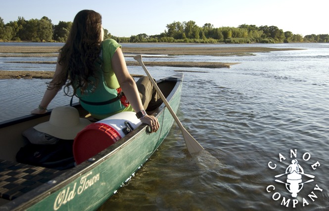
[[[53,46],[0,46],[0,57],[55,57],[60,47]],[[257,52],[300,50],[293,48],[268,48],[268,47],[124,47],[122,51],[127,57],[136,54],[159,55],[209,55],[209,56],[252,56]],[[131,54],[131,55],[130,55]],[[152,56],[152,58],[156,58]],[[55,62],[15,62],[34,64],[55,64]],[[127,66],[139,66],[138,62],[126,62]],[[144,62],[145,66],[167,67],[197,67],[197,68],[230,68],[237,63],[221,62]],[[0,70],[0,79],[10,78],[51,78],[53,71],[6,71]],[[138,76],[138,75],[135,75]]]

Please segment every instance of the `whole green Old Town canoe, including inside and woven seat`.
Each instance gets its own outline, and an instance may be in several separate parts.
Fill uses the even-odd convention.
[[[176,112],[180,104],[183,74],[157,81]],[[74,105],[84,117],[87,113]],[[159,147],[174,119],[162,104],[152,115],[160,128],[148,133],[140,125],[124,138],[87,161],[68,170],[54,170],[16,162],[24,145],[22,132],[48,121],[44,115],[27,115],[0,123],[0,211],[96,210],[127,182]]]

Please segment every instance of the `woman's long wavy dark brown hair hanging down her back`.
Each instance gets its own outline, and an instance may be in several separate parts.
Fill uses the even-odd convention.
[[[70,34],[60,50],[58,59],[62,72],[52,80],[54,88],[65,84],[64,92],[68,95],[69,86],[73,95],[78,88],[81,93],[91,83],[90,76],[95,77],[96,62],[99,60],[101,43],[101,15],[93,10],[78,12],[72,23]],[[49,87],[49,86],[48,86]],[[68,88],[68,91],[65,91]]]

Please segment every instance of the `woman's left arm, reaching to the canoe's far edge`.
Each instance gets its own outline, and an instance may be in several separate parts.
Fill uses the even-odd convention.
[[[62,67],[58,64],[58,59],[57,59],[56,70],[53,79],[49,83],[47,90],[44,94],[44,97],[41,103],[39,104],[39,107],[31,111],[32,114],[43,114],[47,112],[47,106],[60,90],[60,88],[54,88],[54,83],[55,83],[55,78],[57,78],[56,76],[59,75],[61,71],[62,71]]]

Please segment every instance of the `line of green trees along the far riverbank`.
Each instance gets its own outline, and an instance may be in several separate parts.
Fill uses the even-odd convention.
[[[18,17],[17,21],[4,23],[0,17],[0,40],[2,41],[56,41],[65,42],[72,22],[59,21],[51,23],[46,16],[41,19],[25,20]],[[238,27],[215,28],[206,23],[202,27],[194,21],[167,24],[167,30],[160,35],[131,35],[118,37],[104,29],[104,38],[113,38],[118,42],[194,42],[194,43],[282,43],[282,42],[329,42],[329,35],[295,35],[283,32],[276,26],[239,25]]]

